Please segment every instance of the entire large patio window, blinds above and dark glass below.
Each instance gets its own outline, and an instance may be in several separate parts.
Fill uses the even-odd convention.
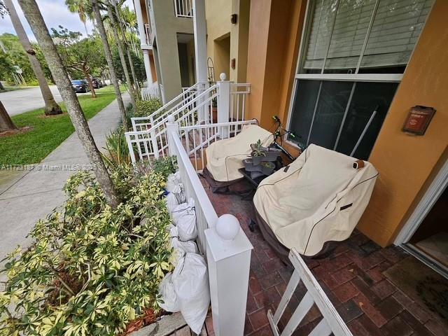
[[[366,160],[433,0],[310,0],[289,128]]]

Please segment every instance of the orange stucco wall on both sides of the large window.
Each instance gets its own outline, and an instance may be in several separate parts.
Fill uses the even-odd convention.
[[[251,1],[248,114],[266,129],[274,115],[286,124],[305,7],[305,0]],[[436,0],[370,157],[380,177],[358,228],[382,246],[393,242],[448,146],[447,15],[448,1]],[[415,105],[437,109],[422,137],[401,132]]]

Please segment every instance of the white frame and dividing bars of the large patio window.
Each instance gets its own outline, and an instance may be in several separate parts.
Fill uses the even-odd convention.
[[[306,10],[306,14],[305,14],[305,18],[304,18],[304,22],[303,22],[303,28],[302,28],[302,34],[300,36],[300,46],[299,46],[299,52],[297,55],[297,62],[296,62],[296,66],[295,66],[295,73],[294,73],[294,78],[293,78],[293,87],[292,87],[292,91],[290,94],[290,102],[289,102],[289,108],[288,108],[288,118],[286,120],[286,125],[287,125],[287,129],[290,129],[290,125],[291,125],[291,121],[293,118],[293,106],[294,106],[294,102],[295,102],[295,97],[297,94],[297,83],[299,82],[299,80],[332,80],[332,81],[350,81],[353,82],[353,90],[351,91],[350,97],[349,97],[349,101],[347,102],[347,106],[346,106],[346,110],[344,113],[344,118],[342,120],[342,124],[340,126],[339,132],[338,132],[338,138],[337,140],[339,140],[341,131],[342,131],[342,127],[344,126],[344,120],[346,118],[346,113],[349,110],[349,106],[351,104],[351,98],[353,97],[353,91],[354,88],[356,87],[356,83],[357,82],[379,82],[379,83],[400,83],[403,76],[405,75],[406,69],[407,69],[407,64],[409,64],[410,60],[412,59],[412,55],[414,53],[414,50],[416,48],[416,45],[419,43],[419,39],[421,37],[421,34],[419,34],[419,37],[417,38],[417,41],[414,45],[414,48],[411,52],[411,55],[409,57],[409,60],[406,64],[405,67],[405,71],[403,71],[403,73],[358,73],[359,69],[360,69],[360,64],[363,60],[363,56],[364,56],[364,52],[365,52],[365,48],[367,46],[367,42],[369,40],[370,37],[370,32],[372,31],[372,27],[373,27],[373,23],[374,23],[374,18],[375,15],[377,14],[377,10],[379,7],[379,2],[381,0],[376,0],[374,3],[374,9],[372,11],[372,16],[370,18],[370,22],[369,25],[367,27],[367,32],[365,34],[365,38],[364,38],[364,42],[363,42],[363,46],[360,50],[360,55],[359,55],[359,59],[358,59],[358,63],[356,65],[356,71],[355,73],[323,73],[323,71],[325,71],[325,64],[328,58],[328,50],[330,49],[330,44],[331,44],[331,38],[332,38],[332,33],[335,29],[335,22],[336,22],[336,18],[337,18],[337,10],[339,9],[339,3],[341,2],[341,0],[337,0],[337,5],[336,5],[336,15],[332,24],[332,31],[330,33],[330,38],[328,41],[328,46],[327,46],[327,53],[325,56],[325,59],[323,59],[323,64],[322,64],[322,69],[321,69],[321,73],[299,73],[300,69],[302,67],[302,64],[304,62],[304,57],[305,57],[305,49],[307,48],[307,42],[309,39],[309,33],[311,31],[311,25],[309,25],[309,20],[312,20],[312,13],[313,13],[313,8],[312,5],[316,3],[317,0],[307,0],[307,6],[305,8]],[[435,3],[435,1],[434,1]],[[433,3],[433,6],[434,6]],[[426,22],[428,22],[428,18],[429,15],[431,13],[431,10],[433,9],[433,6],[431,6],[428,15],[426,16],[425,22],[423,23],[423,27],[421,32],[423,32],[424,27],[426,26]],[[400,89],[400,86],[397,87],[397,90]],[[396,92],[395,92],[396,93]],[[316,113],[316,106],[318,105],[318,99],[319,96],[316,99],[316,104],[314,105],[314,113]],[[388,111],[386,112],[386,118],[387,118],[387,114]],[[382,126],[381,126],[382,129]],[[311,130],[312,130],[312,123],[311,123]],[[309,132],[309,134],[311,134],[311,130]],[[381,130],[379,131],[379,133],[381,132]],[[299,148],[300,147],[295,144],[295,142],[290,141],[288,139],[288,134],[285,134],[283,136],[283,141],[286,142],[286,144],[293,146],[294,148]],[[308,143],[308,141],[307,141]],[[336,146],[337,146],[337,141],[336,141]],[[373,146],[374,148],[374,146]]]

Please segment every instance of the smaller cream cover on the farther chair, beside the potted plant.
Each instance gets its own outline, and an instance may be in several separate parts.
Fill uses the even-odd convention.
[[[262,146],[269,146],[274,136],[257,125],[246,125],[233,138],[214,142],[207,147],[207,169],[214,180],[227,182],[243,177],[238,169],[244,167],[242,160],[251,155],[251,144],[261,140]]]

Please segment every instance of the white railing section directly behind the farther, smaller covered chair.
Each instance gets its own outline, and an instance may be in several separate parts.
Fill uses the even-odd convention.
[[[179,127],[179,137],[186,149],[195,171],[200,173],[206,162],[205,150],[215,141],[234,137],[244,125],[256,124],[257,120]]]

